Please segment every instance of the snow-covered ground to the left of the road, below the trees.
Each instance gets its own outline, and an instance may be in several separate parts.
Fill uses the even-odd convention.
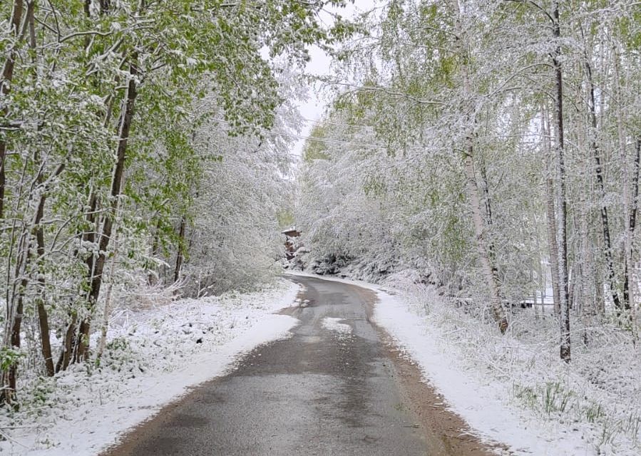
[[[111,324],[102,368],[77,366],[26,386],[31,403],[0,415],[0,453],[95,455],[193,385],[222,375],[240,353],[287,337],[295,318],[272,314],[294,304],[299,286],[184,299],[123,311]]]

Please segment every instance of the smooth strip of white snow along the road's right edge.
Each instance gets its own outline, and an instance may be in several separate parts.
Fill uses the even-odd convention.
[[[447,346],[439,328],[426,323],[388,287],[336,277],[296,272],[294,275],[339,281],[375,291],[374,318],[418,364],[424,377],[443,395],[479,437],[508,445],[519,456],[594,456],[593,445],[573,425],[545,422],[511,403],[511,384],[483,376],[466,366],[461,353]]]

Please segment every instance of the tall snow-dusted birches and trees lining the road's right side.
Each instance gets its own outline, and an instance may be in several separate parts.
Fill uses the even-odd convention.
[[[362,21],[304,151],[309,264],[414,269],[502,332],[550,288],[568,362],[571,315],[636,334],[638,2],[399,0]]]

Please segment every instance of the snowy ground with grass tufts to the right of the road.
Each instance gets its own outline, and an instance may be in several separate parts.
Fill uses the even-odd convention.
[[[385,286],[321,278],[376,291],[377,323],[481,438],[507,445],[512,455],[641,454],[640,380],[634,364],[638,352],[616,353],[611,347],[602,358],[625,366],[610,371],[603,359],[587,358],[577,348],[568,368],[558,361],[555,337],[549,346],[528,345],[527,331],[519,326],[530,327],[535,321],[513,318],[515,333],[501,336],[430,289],[406,286],[402,277]],[[606,388],[597,390],[586,380],[590,368],[610,375]],[[625,379],[626,373],[637,378]]]

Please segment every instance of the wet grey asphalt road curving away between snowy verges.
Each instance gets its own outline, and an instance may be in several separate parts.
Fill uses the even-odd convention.
[[[307,277],[294,336],[257,348],[125,438],[109,456],[426,455],[419,418],[369,321],[373,294]],[[324,328],[342,318],[349,335]],[[198,368],[198,366],[195,366]]]

